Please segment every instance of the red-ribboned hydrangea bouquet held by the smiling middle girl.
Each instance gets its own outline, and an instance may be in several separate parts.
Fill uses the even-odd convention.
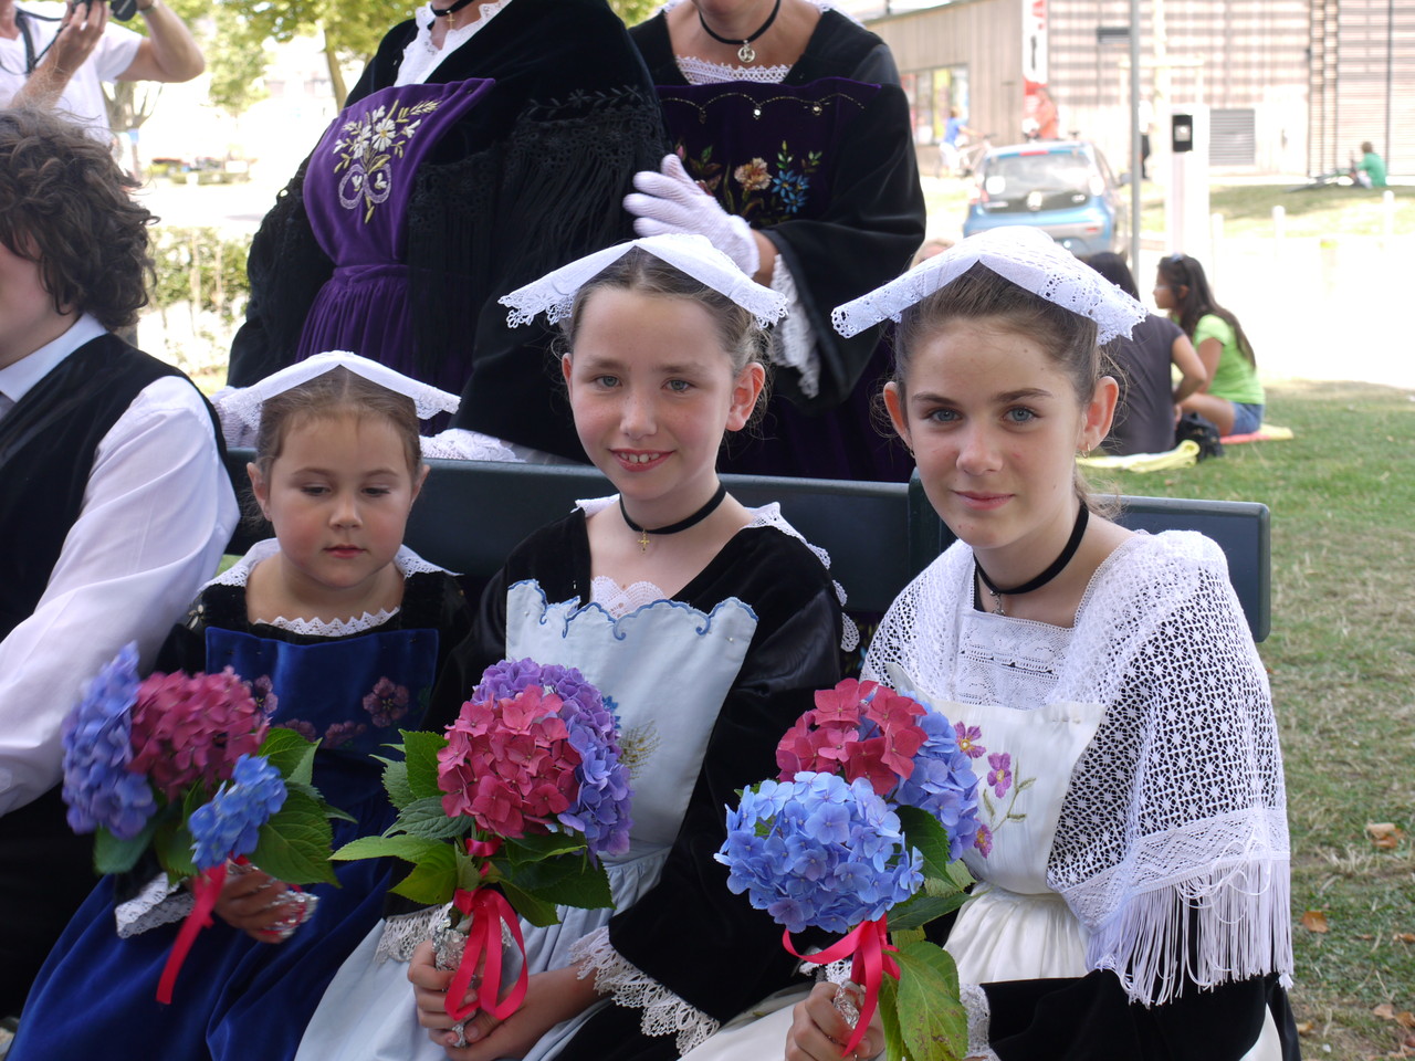
[[[446,737],[405,731],[393,747],[403,758],[383,760],[383,785],[398,819],[334,857],[412,863],[393,891],[451,903],[449,929],[461,937],[439,946],[457,969],[449,1016],[484,1009],[504,1020],[525,997],[526,973],[509,955],[519,968],[502,993],[502,927],[524,952],[518,914],[553,925],[556,905],[613,905],[599,859],[628,850],[631,795],[614,714],[579,671],[508,659],[487,669]]]

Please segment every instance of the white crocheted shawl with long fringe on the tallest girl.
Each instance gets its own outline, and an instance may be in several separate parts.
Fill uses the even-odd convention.
[[[998,666],[1009,661],[1047,672],[1036,686],[1047,703],[1107,706],[1047,862],[1049,887],[1090,934],[1087,968],[1112,969],[1143,1004],[1177,996],[1186,979],[1286,982],[1282,755],[1220,547],[1194,532],[1126,539],[1071,631],[976,621],[972,573],[958,542],[920,574],[884,617],[865,676],[899,668],[940,700],[1000,703],[989,673],[1013,672]]]

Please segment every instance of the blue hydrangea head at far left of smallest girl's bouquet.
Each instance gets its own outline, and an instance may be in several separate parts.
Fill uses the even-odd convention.
[[[137,686],[137,645],[129,642],[64,723],[64,802],[76,833],[103,826],[130,840],[157,811],[147,778],[127,768]]]

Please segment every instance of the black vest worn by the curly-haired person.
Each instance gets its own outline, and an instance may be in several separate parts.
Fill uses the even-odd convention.
[[[105,334],[74,351],[0,417],[0,638],[44,596],[79,518],[98,444],[139,392],[163,376],[181,372]]]

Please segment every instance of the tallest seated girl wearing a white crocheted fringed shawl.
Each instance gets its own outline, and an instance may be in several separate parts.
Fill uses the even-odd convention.
[[[979,1058],[1298,1053],[1282,758],[1224,555],[1125,530],[1075,478],[1115,405],[1097,342],[1143,315],[1030,228],[836,310],[900,318],[890,419],[959,538],[894,601],[865,676],[954,719],[986,785],[981,883],[947,942]],[[835,1061],[832,995],[730,1055],[775,1060],[785,1037],[788,1061]]]

